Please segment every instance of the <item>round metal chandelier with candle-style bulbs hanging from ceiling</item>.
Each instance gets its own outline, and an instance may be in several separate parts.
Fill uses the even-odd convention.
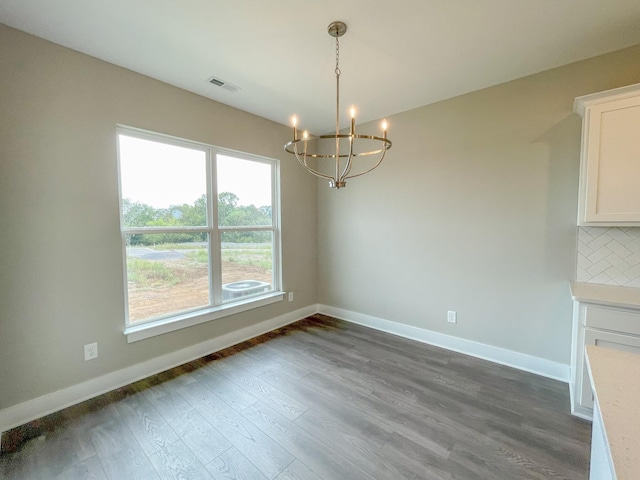
[[[298,135],[298,119],[293,117],[293,140],[284,149],[295,155],[300,165],[313,175],[329,180],[331,188],[346,186],[347,179],[369,173],[382,163],[387,150],[391,148],[391,140],[387,138],[387,122],[382,121],[382,137],[356,133],[356,109],[350,108],[351,126],[349,133],[340,133],[340,42],[339,38],[347,31],[344,22],[333,22],[328,27],[329,35],[336,39],[336,133],[313,136],[304,130]],[[363,162],[360,157],[370,157]],[[314,160],[314,166],[309,160]],[[317,159],[329,159],[332,174],[316,170]],[[333,162],[331,162],[333,160]],[[357,165],[356,165],[357,164]],[[363,164],[363,165],[361,165]],[[356,168],[354,168],[354,166]]]

